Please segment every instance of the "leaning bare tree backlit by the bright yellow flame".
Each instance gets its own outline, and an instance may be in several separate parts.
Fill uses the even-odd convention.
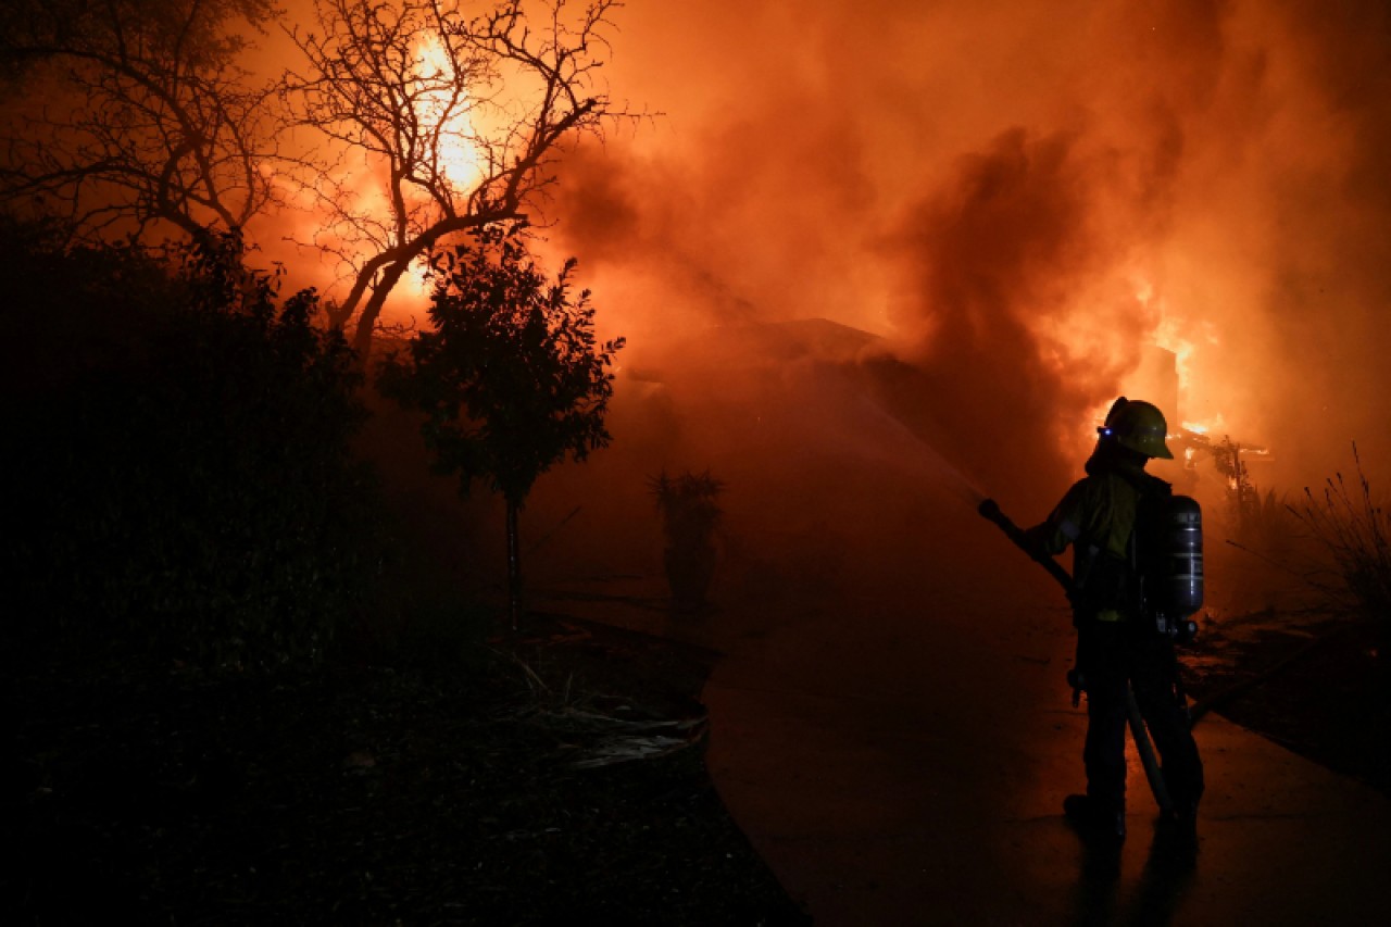
[[[330,315],[356,315],[362,356],[413,263],[451,235],[524,217],[561,146],[615,116],[597,82],[613,0],[465,6],[316,0],[320,31],[292,33],[306,65],[285,90],[324,139],[299,161],[327,216],[303,244],[351,280]]]

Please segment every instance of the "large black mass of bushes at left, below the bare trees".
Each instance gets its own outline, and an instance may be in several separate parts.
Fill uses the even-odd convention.
[[[154,253],[0,225],[7,631],[316,660],[380,569],[352,352],[235,234]]]

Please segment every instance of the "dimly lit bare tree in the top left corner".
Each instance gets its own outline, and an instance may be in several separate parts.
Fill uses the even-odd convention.
[[[273,17],[273,0],[13,0],[0,202],[89,238],[243,225],[273,195],[277,97],[232,29]]]

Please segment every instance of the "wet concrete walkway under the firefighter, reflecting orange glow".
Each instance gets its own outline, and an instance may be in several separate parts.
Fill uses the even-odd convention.
[[[1155,845],[1134,750],[1120,859],[1089,852],[1071,628],[1028,579],[712,622],[711,772],[817,924],[1384,923],[1391,802],[1219,717],[1196,866]]]

